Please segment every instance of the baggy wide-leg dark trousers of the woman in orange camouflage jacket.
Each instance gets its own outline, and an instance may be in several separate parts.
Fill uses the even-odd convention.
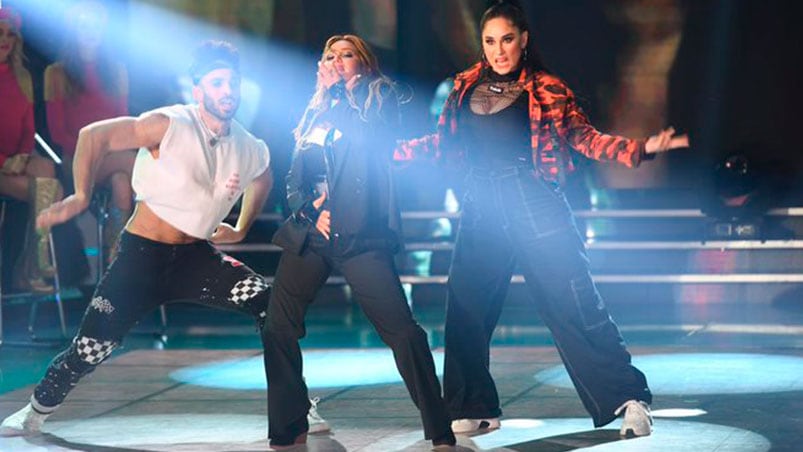
[[[562,192],[531,168],[467,177],[446,309],[444,396],[452,419],[498,417],[490,341],[518,264],[583,405],[599,427],[630,399],[652,401],[589,272]]]

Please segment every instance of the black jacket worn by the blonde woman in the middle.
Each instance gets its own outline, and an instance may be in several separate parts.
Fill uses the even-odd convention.
[[[371,79],[355,86],[355,104],[363,106]],[[391,175],[393,149],[399,130],[398,100],[390,87],[361,113],[347,99],[323,112],[315,124],[331,124],[339,134],[328,135],[327,145],[308,146],[299,140],[287,175],[287,203],[292,215],[273,237],[273,243],[300,254],[307,236],[315,232],[318,212],[315,182],[325,173],[329,198],[323,209],[331,212],[330,243],[333,252],[347,256],[369,249],[395,252],[401,241],[401,218]],[[341,135],[342,134],[342,135]],[[320,164],[326,155],[325,164]]]

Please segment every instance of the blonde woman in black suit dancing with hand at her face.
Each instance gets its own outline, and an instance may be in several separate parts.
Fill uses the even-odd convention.
[[[333,270],[382,340],[421,412],[424,436],[436,447],[455,443],[427,336],[416,323],[393,264],[399,211],[390,164],[398,128],[393,82],[379,71],[361,38],[329,38],[317,85],[295,130],[287,176],[292,216],[277,231],[283,248],[268,303],[265,365],[271,447],[306,442],[307,386],[298,340],[304,314]]]

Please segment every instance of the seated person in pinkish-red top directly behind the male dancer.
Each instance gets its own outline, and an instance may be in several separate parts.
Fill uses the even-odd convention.
[[[47,123],[52,140],[63,153],[67,185],[72,186],[72,160],[78,132],[95,121],[128,115],[128,75],[109,58],[105,48],[106,8],[81,1],[68,11],[68,36],[59,60],[45,70]],[[104,243],[114,254],[117,237],[131,216],[131,170],[135,152],[108,155],[95,182],[111,189],[109,224]]]

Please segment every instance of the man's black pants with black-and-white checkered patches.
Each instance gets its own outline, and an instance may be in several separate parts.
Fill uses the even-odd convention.
[[[169,245],[123,232],[117,258],[98,284],[78,334],[47,369],[32,403],[51,412],[145,314],[192,301],[252,315],[261,327],[270,290],[262,276],[209,242]]]

